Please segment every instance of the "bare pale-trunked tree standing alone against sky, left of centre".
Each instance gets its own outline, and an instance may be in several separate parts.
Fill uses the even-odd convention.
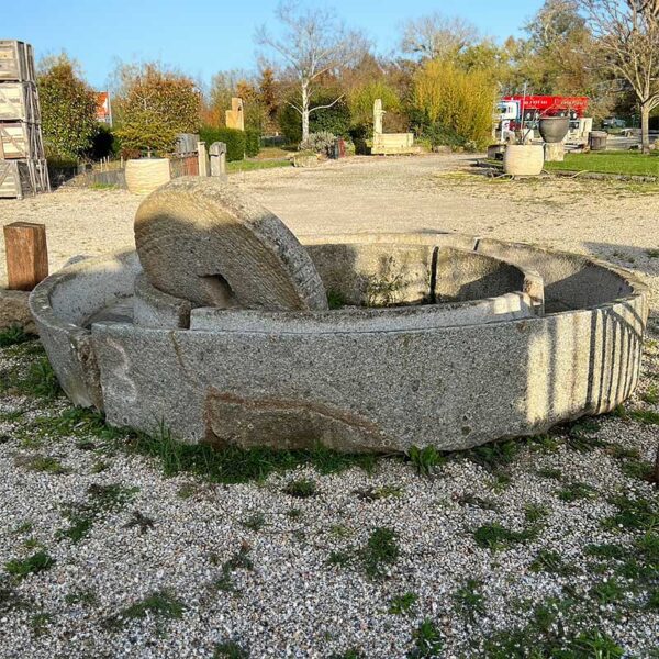
[[[302,141],[309,137],[309,116],[312,112],[336,104],[312,105],[313,92],[321,79],[336,75],[353,64],[367,49],[366,40],[350,32],[330,9],[302,9],[295,1],[282,2],[277,8],[277,19],[283,26],[278,38],[261,26],[257,43],[277,54],[287,72],[300,90],[300,103],[287,101],[302,118]]]

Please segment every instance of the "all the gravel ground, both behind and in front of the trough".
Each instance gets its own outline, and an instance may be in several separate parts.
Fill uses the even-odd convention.
[[[659,308],[654,192],[463,164],[234,180],[298,233],[447,228],[608,256]],[[57,266],[129,243],[138,202],[60,190],[2,202],[0,220],[46,222]],[[231,485],[165,478],[64,399],[25,395],[49,392],[35,344],[0,349],[0,657],[659,657],[659,496],[638,477],[659,439],[652,325],[618,414],[448,456],[432,478],[382,458]],[[287,492],[304,479],[312,495]]]

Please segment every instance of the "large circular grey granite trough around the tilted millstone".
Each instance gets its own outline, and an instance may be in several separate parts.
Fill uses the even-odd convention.
[[[132,250],[48,277],[31,306],[65,392],[190,443],[390,453],[541,433],[636,386],[648,309],[627,271],[456,234],[300,242],[337,309],[199,306]]]

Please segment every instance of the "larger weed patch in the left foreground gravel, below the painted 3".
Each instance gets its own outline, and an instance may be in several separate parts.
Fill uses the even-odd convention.
[[[68,538],[74,544],[79,543],[89,535],[99,517],[121,511],[138,491],[139,488],[126,488],[120,483],[89,485],[85,503],[72,503],[65,509],[64,516],[70,524],[68,528],[58,530],[57,536]]]

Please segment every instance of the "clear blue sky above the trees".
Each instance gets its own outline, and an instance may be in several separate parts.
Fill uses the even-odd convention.
[[[309,0],[303,0],[309,1]],[[116,60],[158,59],[210,81],[217,70],[255,68],[254,32],[272,20],[278,0],[1,0],[0,38],[32,43],[36,56],[66,51],[89,82],[103,89]],[[353,27],[362,29],[379,53],[390,53],[409,18],[434,11],[460,15],[483,34],[504,40],[540,7],[541,0],[334,0]]]

